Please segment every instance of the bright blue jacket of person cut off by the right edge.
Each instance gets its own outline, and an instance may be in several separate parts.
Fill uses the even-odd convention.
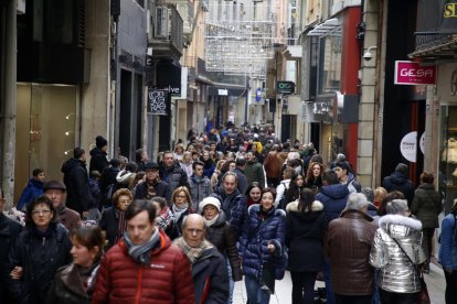
[[[448,214],[442,221],[442,246],[439,247],[439,263],[445,269],[457,270],[457,241],[455,238],[456,216]]]

